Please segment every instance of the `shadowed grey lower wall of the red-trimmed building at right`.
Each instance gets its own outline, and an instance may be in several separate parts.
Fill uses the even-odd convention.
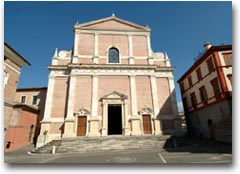
[[[217,140],[224,142],[232,141],[232,114],[227,100],[208,108],[188,113],[187,120],[190,123],[188,124],[190,134],[197,137],[210,138],[208,119],[211,119],[213,122]]]

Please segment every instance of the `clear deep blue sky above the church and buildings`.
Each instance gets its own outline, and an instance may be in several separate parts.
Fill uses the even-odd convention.
[[[153,51],[167,52],[176,81],[208,40],[232,44],[231,2],[5,2],[4,41],[25,57],[19,88],[47,86],[55,48],[73,47],[73,25],[109,17],[149,25]]]

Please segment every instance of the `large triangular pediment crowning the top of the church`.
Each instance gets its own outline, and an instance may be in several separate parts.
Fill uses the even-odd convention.
[[[129,31],[150,31],[148,27],[143,27],[135,23],[111,16],[83,24],[77,24],[75,29],[95,29],[95,30],[129,30]]]

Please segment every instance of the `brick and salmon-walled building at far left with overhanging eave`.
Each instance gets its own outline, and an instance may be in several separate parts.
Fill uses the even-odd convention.
[[[4,151],[12,151],[33,141],[38,109],[15,100],[23,66],[30,63],[4,43]]]

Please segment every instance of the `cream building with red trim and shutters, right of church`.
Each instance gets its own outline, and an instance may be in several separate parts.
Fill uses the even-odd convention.
[[[204,47],[178,80],[188,132],[232,142],[232,45]]]

